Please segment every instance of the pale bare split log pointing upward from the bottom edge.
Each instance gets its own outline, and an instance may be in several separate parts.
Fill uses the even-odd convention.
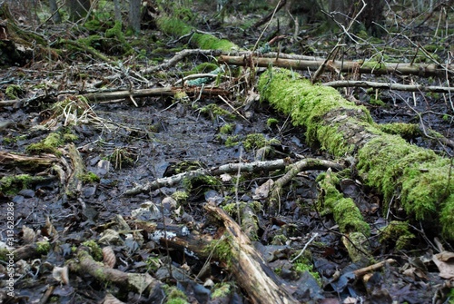
[[[252,247],[251,240],[240,226],[221,208],[205,205],[212,216],[223,222],[232,250],[230,267],[238,284],[246,290],[252,303],[300,303],[284,289],[262,256]]]

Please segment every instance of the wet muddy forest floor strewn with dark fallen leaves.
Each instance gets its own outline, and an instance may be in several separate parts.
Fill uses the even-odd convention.
[[[222,33],[244,49],[251,49],[261,34],[259,30],[241,27],[243,20],[252,23],[261,15],[236,12],[227,15],[220,24],[202,7],[197,7],[196,12],[200,30]],[[285,12],[280,14],[287,22]],[[362,45],[345,44],[340,58],[371,58],[377,49],[386,46],[400,50],[401,57],[394,59],[402,62],[414,58],[430,61],[430,57],[441,63],[449,61],[454,35],[446,34],[442,39],[434,36],[438,16],[418,28],[410,26],[410,16],[400,17],[409,22],[404,34],[388,35],[380,41],[370,37],[374,44],[370,41]],[[420,20],[424,17],[419,16]],[[337,41],[336,34],[312,34],[314,27],[316,24],[303,28],[301,33],[307,34],[301,34],[302,39],[298,41],[284,39],[279,46],[281,53],[321,57],[330,54]],[[62,28],[63,25],[58,29],[45,25],[40,34],[48,41],[93,34],[74,27],[69,30],[69,25],[67,31]],[[273,22],[265,35],[278,32]],[[212,56],[198,54],[167,70],[147,75],[138,72],[143,67],[162,64],[188,47],[186,41],[175,38],[156,28],[145,28],[142,37],[126,38],[135,45],[134,51],[133,55],[118,58],[120,64],[103,62],[86,52],[62,49],[57,58],[30,58],[25,64],[11,64],[0,71],[0,97],[4,102],[0,105],[0,219],[10,221],[7,206],[14,206],[16,250],[15,297],[7,295],[6,279],[11,271],[8,260],[2,256],[0,273],[5,289],[0,291],[0,302],[159,303],[176,297],[173,287],[183,291],[189,303],[252,302],[248,290],[238,284],[235,273],[229,270],[228,261],[213,259],[206,252],[194,253],[166,240],[166,233],[188,242],[200,241],[203,236],[215,238],[220,233],[219,223],[212,220],[203,206],[212,203],[222,207],[239,221],[236,206],[240,202],[255,209],[252,218],[256,229],[252,236],[256,250],[277,275],[279,286],[301,303],[453,302],[454,289],[449,284],[454,277],[454,266],[446,260],[449,270],[445,271],[450,277],[445,273],[442,278],[439,264],[434,262],[440,250],[437,244],[442,243],[450,252],[454,251],[453,244],[445,240],[438,242],[439,236],[423,230],[418,221],[412,221],[399,210],[383,210],[380,194],[363,186],[354,171],[341,181],[340,190],[355,201],[370,224],[371,260],[393,260],[360,277],[354,271],[367,267],[371,260],[352,262],[339,227],[330,214],[320,210],[317,177],[323,171],[298,174],[284,188],[278,214],[267,211],[263,192],[266,192],[265,182],[281,177],[282,170],[223,173],[212,179],[188,179],[127,195],[132,189],[160,178],[230,163],[279,159],[349,163],[349,160],[334,159],[320,147],[308,146],[301,128],[292,126],[288,117],[259,100],[253,77],[240,75],[234,80],[216,80],[215,86],[228,92],[222,98],[183,94],[94,103],[77,97],[106,90],[175,87],[187,72],[202,63],[214,63]],[[143,44],[144,41],[148,44]],[[419,47],[415,46],[418,44],[438,47],[431,49],[428,56],[418,53]],[[101,45],[98,51],[111,58],[115,56],[114,48],[108,50]],[[261,72],[261,69],[256,71]],[[302,74],[310,76],[307,72]],[[321,82],[336,77],[327,73]],[[417,76],[361,75],[361,79],[449,86],[447,79]],[[103,89],[99,83],[103,83]],[[432,129],[448,139],[454,138],[454,109],[449,94],[362,88],[340,91],[354,96],[356,103],[368,108],[376,123],[416,123],[421,130]],[[30,144],[44,142],[49,134],[61,137],[54,149],[37,150],[49,163],[36,168],[26,165],[27,162],[11,165],[5,161],[5,155],[37,157],[33,152],[38,148],[31,148]],[[424,133],[406,139],[452,157],[452,147]],[[72,145],[76,148],[75,156]],[[11,179],[25,176],[21,174],[33,179]],[[16,191],[11,191],[14,187]],[[395,240],[380,241],[382,229],[395,219],[409,220],[413,234],[410,244],[401,249],[395,248]],[[0,238],[6,249],[7,230],[10,228],[2,228]],[[191,240],[187,239],[188,235]],[[109,249],[101,252],[100,248]],[[302,257],[294,260],[303,249]],[[111,269],[119,272],[106,272],[100,277],[84,266],[74,266],[80,262],[80,252],[84,250],[94,260],[104,260],[104,265],[114,260]],[[132,283],[119,279],[121,273],[148,273],[160,288],[156,291],[133,287]]]

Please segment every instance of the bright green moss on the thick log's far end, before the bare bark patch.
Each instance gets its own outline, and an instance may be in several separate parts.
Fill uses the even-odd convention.
[[[263,73],[258,83],[261,98],[277,110],[291,116],[294,125],[306,128],[309,144],[321,143],[321,148],[343,156],[354,146],[346,144],[340,127],[343,123],[323,120],[328,113],[354,112],[354,123],[373,123],[370,113],[341,97],[336,89],[312,85],[299,74],[272,68]],[[332,136],[335,135],[335,136]]]

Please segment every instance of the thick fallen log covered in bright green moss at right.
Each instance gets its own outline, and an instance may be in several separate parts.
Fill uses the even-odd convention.
[[[258,87],[262,99],[304,127],[307,142],[337,157],[355,156],[364,183],[383,194],[384,210],[394,201],[428,230],[454,240],[452,160],[380,131],[365,107],[299,74],[271,68]]]

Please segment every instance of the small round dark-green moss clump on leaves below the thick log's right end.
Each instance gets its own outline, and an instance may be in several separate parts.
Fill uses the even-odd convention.
[[[391,221],[380,233],[380,242],[397,250],[408,248],[414,238],[415,235],[410,232],[407,221]]]

